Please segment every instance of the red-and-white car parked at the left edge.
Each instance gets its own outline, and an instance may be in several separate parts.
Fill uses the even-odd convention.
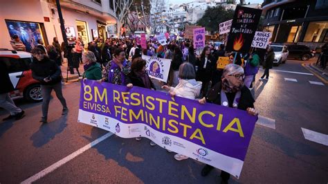
[[[8,67],[8,73],[15,91],[10,93],[10,98],[25,98],[30,102],[42,101],[41,87],[33,79],[30,64],[33,57],[30,53],[0,49],[0,62]]]

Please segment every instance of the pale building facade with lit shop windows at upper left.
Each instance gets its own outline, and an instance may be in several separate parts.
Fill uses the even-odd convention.
[[[109,25],[116,24],[111,0],[62,0],[66,36],[70,42],[81,37],[84,46],[96,37],[106,39]],[[37,39],[52,44],[53,37],[63,42],[55,0],[1,1],[0,48],[9,48],[13,35],[19,35],[30,51]]]

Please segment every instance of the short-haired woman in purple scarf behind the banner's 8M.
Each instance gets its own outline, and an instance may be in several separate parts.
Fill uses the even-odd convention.
[[[102,73],[102,80],[118,85],[127,85],[127,75],[131,72],[131,64],[125,58],[125,52],[121,48],[116,48],[113,52],[113,59],[108,62]]]

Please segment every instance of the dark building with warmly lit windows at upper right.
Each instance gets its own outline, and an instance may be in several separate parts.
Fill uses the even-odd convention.
[[[314,49],[328,42],[328,1],[266,0],[264,30],[271,42],[302,44]]]

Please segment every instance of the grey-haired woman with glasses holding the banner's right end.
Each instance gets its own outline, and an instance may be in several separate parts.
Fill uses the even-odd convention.
[[[249,89],[244,86],[243,76],[244,69],[242,66],[228,64],[224,68],[221,82],[215,84],[208,93],[208,96],[199,100],[199,103],[205,104],[206,102],[210,102],[244,110],[250,115],[257,116],[257,112],[254,109],[255,100]],[[213,168],[210,165],[206,165],[201,170],[201,176],[207,176]],[[229,178],[230,174],[228,172],[221,172],[221,183],[228,183]]]

